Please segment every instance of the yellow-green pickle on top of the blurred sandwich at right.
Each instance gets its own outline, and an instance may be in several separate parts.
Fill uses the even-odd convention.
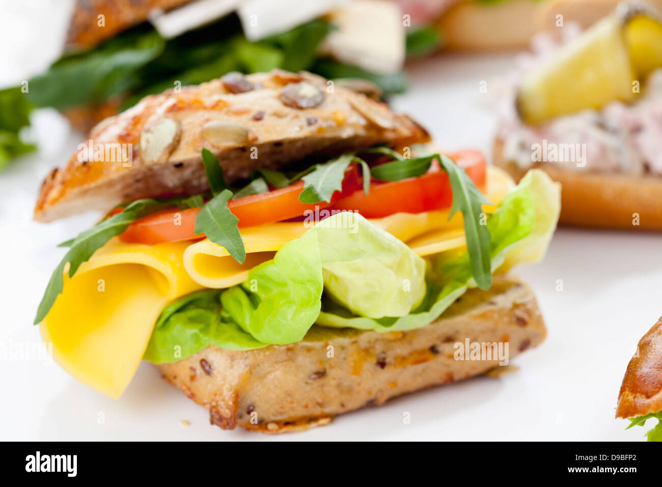
[[[639,81],[662,66],[662,24],[637,4],[612,15],[528,72],[518,87],[522,121],[536,124],[614,100],[633,101]]]

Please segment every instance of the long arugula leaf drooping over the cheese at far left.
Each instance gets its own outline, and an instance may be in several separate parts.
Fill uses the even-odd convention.
[[[40,323],[46,317],[55,299],[62,293],[62,286],[64,284],[62,274],[64,274],[66,264],[69,264],[68,274],[69,277],[72,277],[79,266],[89,260],[98,248],[101,248],[110,239],[124,232],[126,227],[131,223],[150,213],[167,208],[170,205],[171,203],[164,203],[156,199],[138,199],[130,203],[121,213],[117,213],[117,215],[113,215],[109,219],[97,223],[91,229],[81,232],[73,241],[65,242],[64,244],[70,244],[71,248],[54,270],[48,286],[46,286],[44,298],[39,303],[37,314],[34,318],[34,324]],[[60,244],[60,246],[64,244]]]

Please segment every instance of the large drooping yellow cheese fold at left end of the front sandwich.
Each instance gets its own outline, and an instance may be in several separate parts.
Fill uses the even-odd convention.
[[[203,287],[181,263],[188,245],[125,244],[115,238],[73,278],[65,272],[64,292],[40,323],[56,362],[83,384],[118,398],[166,304]]]

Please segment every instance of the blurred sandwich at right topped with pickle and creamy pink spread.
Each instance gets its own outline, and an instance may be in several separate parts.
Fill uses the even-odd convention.
[[[584,32],[557,31],[500,93],[496,166],[561,182],[561,223],[661,230],[659,14],[624,3]]]

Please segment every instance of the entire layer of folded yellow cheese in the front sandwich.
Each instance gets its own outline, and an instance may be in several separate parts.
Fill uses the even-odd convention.
[[[495,204],[513,184],[504,172],[492,168],[487,180],[486,195]],[[448,215],[448,211],[397,213],[371,222],[424,256],[465,245],[461,214],[450,221]],[[244,264],[207,239],[156,245],[111,239],[81,264],[73,278],[65,272],[63,292],[40,323],[42,338],[53,344],[56,362],[71,376],[118,398],[169,301],[203,288],[244,282],[253,266],[271,259],[307,230],[303,222],[241,229]]]

